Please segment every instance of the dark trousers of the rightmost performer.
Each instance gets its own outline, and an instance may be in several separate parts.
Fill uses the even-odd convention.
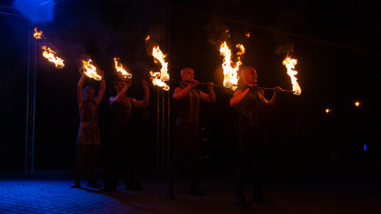
[[[238,141],[238,166],[236,171],[236,194],[243,196],[248,173],[253,177],[253,198],[261,198],[263,176],[264,132],[253,127],[241,127]]]

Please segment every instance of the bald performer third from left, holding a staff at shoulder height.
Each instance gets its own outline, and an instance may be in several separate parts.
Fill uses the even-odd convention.
[[[187,155],[191,158],[191,195],[206,196],[204,191],[198,188],[198,156],[200,153],[200,127],[198,125],[198,111],[200,99],[202,101],[214,102],[213,82],[208,82],[209,94],[201,92],[195,87],[200,83],[195,79],[192,68],[183,68],[181,78],[184,81],[174,91],[174,99],[177,103],[176,120],[176,145],[172,163],[170,165],[169,189],[167,199],[176,199],[174,196],[174,177],[179,170],[185,166]],[[193,83],[191,83],[193,82]]]

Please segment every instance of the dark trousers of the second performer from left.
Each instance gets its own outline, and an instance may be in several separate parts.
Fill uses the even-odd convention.
[[[114,134],[109,146],[107,157],[106,175],[104,177],[104,187],[115,190],[118,184],[119,166],[123,167],[123,177],[126,188],[140,185],[135,179],[135,137],[132,125],[116,125]]]

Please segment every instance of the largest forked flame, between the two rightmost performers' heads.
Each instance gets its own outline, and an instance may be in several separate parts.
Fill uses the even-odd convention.
[[[241,56],[245,53],[245,47],[242,44],[237,44],[236,47],[240,51],[237,53],[238,61],[234,63],[234,67],[231,67],[233,62],[231,61],[231,50],[229,49],[229,46],[226,42],[224,42],[219,47],[219,52],[222,56],[224,56],[224,63],[222,63],[222,68],[224,69],[224,87],[231,88],[232,90],[237,88],[236,85],[239,79],[237,71],[239,69],[239,65],[242,64]]]

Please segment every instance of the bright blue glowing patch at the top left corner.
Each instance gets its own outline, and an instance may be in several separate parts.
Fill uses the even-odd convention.
[[[15,0],[13,6],[32,23],[48,23],[54,20],[54,1]]]

